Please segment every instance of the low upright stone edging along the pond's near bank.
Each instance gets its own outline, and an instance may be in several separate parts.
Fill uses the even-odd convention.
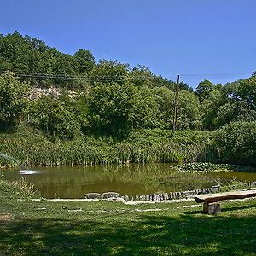
[[[119,196],[117,192],[106,192],[103,194],[100,193],[87,193],[84,195],[85,199],[91,200],[106,200],[106,199],[123,199],[124,201],[166,201],[166,200],[179,200],[179,199],[189,199],[194,195],[210,194],[231,191],[236,189],[253,189],[256,187],[256,181],[251,183],[238,183],[234,185],[221,187],[219,185],[212,186],[211,188],[206,189],[194,189],[189,191],[180,191],[180,192],[169,192],[169,193],[158,193],[152,195],[122,195]]]

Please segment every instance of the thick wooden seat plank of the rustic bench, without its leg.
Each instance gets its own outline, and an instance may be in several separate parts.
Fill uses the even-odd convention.
[[[247,197],[256,196],[256,189],[254,190],[240,190],[240,191],[230,191],[218,194],[207,194],[207,195],[195,195],[195,201],[200,202],[217,202],[229,199],[243,199]]]

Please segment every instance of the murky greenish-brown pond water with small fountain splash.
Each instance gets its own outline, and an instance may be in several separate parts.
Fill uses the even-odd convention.
[[[22,177],[34,185],[45,198],[83,198],[90,192],[118,192],[119,195],[150,195],[201,189],[221,183],[256,181],[256,172],[188,173],[172,170],[170,164],[123,166],[30,167],[26,172],[2,170],[4,179]]]

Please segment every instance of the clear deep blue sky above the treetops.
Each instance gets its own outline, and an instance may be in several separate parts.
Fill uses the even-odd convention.
[[[256,70],[255,11],[255,0],[8,0],[0,33],[17,30],[71,55],[90,49],[96,61],[145,65],[172,80],[179,73],[195,88]]]

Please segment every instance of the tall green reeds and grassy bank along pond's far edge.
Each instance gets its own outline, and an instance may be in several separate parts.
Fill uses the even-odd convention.
[[[61,141],[19,125],[12,133],[0,134],[0,153],[8,154],[26,166],[68,166],[120,163],[170,163],[206,159],[212,143],[207,131],[141,130],[117,141],[113,137],[79,137]],[[15,165],[1,160],[0,166]]]

